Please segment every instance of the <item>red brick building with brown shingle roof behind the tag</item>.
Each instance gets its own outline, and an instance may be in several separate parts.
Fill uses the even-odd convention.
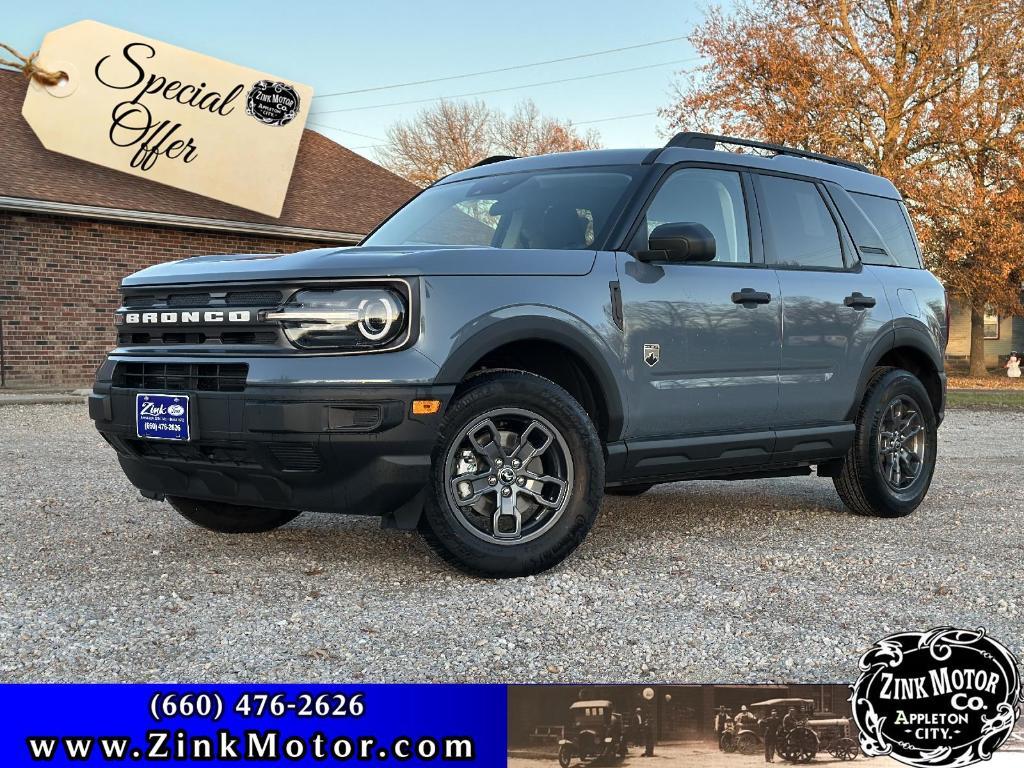
[[[48,152],[0,72],[0,386],[88,384],[118,284],[162,261],[354,245],[417,188],[306,131],[278,219]],[[254,169],[253,182],[258,183]]]

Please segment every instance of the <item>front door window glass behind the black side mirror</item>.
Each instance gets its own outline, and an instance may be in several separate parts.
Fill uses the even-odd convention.
[[[716,262],[751,263],[751,238],[738,173],[684,168],[669,176],[647,207],[645,234],[649,237],[659,224],[689,221],[703,224],[715,236]],[[641,247],[645,248],[646,243]]]

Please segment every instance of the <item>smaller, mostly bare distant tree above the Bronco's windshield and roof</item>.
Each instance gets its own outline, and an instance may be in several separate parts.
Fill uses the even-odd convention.
[[[439,101],[388,129],[381,164],[420,186],[469,168],[492,155],[546,155],[593,150],[597,134],[541,115],[522,101],[508,115],[482,101]]]

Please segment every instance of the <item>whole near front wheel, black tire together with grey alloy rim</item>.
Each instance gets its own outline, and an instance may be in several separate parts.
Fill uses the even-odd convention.
[[[512,470],[516,457],[525,462]],[[594,524],[604,489],[601,441],[583,407],[521,371],[466,382],[431,465],[420,530],[441,558],[477,575],[528,575],[564,560]]]

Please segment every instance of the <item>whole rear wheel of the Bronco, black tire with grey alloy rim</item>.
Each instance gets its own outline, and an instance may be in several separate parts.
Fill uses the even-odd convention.
[[[903,409],[904,418],[892,410],[896,407]],[[897,429],[904,419],[909,425]],[[853,445],[834,479],[843,503],[859,515],[910,514],[924,501],[935,474],[938,425],[925,386],[908,371],[876,369],[868,380],[856,426]],[[897,432],[900,437],[894,441]],[[911,437],[905,436],[911,433]],[[918,435],[923,440],[920,445],[914,442]],[[920,457],[920,462],[894,458],[903,455]]]

